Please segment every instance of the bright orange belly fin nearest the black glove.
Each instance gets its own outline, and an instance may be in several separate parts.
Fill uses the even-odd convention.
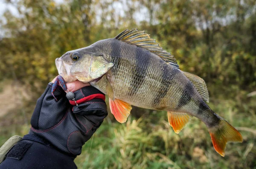
[[[119,123],[126,122],[131,112],[131,104],[128,104],[122,100],[109,98],[109,105],[111,113],[115,116]]]

